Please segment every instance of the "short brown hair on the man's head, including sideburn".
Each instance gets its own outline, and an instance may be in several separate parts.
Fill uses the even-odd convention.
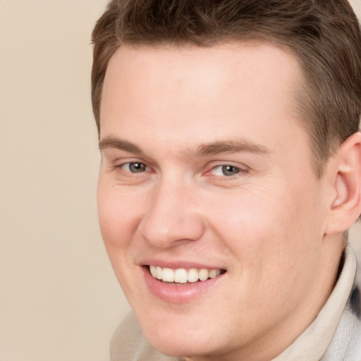
[[[98,130],[106,67],[122,44],[209,47],[232,39],[273,42],[298,58],[305,77],[298,107],[321,176],[360,122],[361,34],[347,0],[112,0],[92,33]]]

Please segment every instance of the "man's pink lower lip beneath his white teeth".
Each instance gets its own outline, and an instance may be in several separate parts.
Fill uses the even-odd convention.
[[[224,274],[221,274],[214,279],[207,279],[207,281],[182,283],[180,286],[176,286],[154,279],[148,267],[142,267],[142,270],[145,276],[145,283],[149,290],[151,290],[157,298],[171,303],[186,303],[196,300],[201,295],[204,295],[204,293],[207,293],[207,291],[224,276]]]

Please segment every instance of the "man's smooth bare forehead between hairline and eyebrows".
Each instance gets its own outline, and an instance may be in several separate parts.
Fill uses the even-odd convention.
[[[275,126],[292,135],[301,79],[295,57],[268,43],[121,47],[104,80],[101,138],[145,128],[159,142],[229,139],[232,129],[257,140]]]

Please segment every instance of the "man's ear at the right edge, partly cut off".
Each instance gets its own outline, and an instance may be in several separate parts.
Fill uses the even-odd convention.
[[[348,137],[327,167],[331,179],[331,204],[326,233],[341,233],[361,213],[361,133]]]

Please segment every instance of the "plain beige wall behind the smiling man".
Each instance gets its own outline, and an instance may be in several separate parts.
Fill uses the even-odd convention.
[[[90,32],[105,4],[0,0],[0,361],[109,360],[129,309],[95,202]]]

